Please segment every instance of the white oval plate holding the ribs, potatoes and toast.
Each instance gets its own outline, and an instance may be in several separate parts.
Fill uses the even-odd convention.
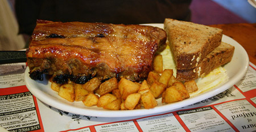
[[[152,25],[154,27],[163,28],[163,24],[144,24],[144,25]],[[245,75],[247,68],[249,66],[249,58],[248,55],[243,49],[243,47],[238,44],[237,41],[231,39],[228,36],[223,35],[222,41],[227,42],[235,46],[234,55],[232,61],[224,66],[227,70],[229,80],[224,83],[222,86],[213,88],[204,93],[200,93],[197,96],[193,96],[189,99],[179,101],[172,104],[162,104],[161,99],[158,99],[158,106],[153,109],[135,109],[135,110],[107,110],[103,108],[94,107],[86,107],[82,104],[81,101],[78,102],[69,102],[63,98],[61,98],[57,92],[51,89],[51,83],[48,80],[44,79],[44,81],[32,80],[28,74],[28,68],[25,71],[25,82],[28,90],[36,96],[43,103],[51,105],[57,109],[65,110],[67,112],[82,114],[86,116],[96,116],[96,117],[130,117],[130,116],[144,116],[148,114],[155,114],[160,112],[167,112],[170,110],[178,109],[181,107],[185,107],[187,105],[191,105],[197,103],[201,100],[207,99],[208,97],[212,97],[217,95],[220,92],[227,90],[232,87],[235,83],[237,83],[243,75]]]

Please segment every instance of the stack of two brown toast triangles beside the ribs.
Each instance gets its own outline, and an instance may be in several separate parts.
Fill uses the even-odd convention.
[[[179,80],[195,80],[232,59],[234,46],[221,42],[221,29],[165,19],[164,30]]]

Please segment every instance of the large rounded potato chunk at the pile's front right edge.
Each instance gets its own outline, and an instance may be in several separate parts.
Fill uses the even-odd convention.
[[[177,86],[171,86],[164,91],[162,95],[162,103],[174,103],[182,100],[182,97],[176,87]]]

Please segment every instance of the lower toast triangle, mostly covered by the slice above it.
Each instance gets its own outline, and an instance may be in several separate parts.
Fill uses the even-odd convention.
[[[177,70],[178,80],[195,80],[210,73],[213,69],[231,61],[234,53],[234,46],[221,42],[221,44],[210,52],[196,68]]]

